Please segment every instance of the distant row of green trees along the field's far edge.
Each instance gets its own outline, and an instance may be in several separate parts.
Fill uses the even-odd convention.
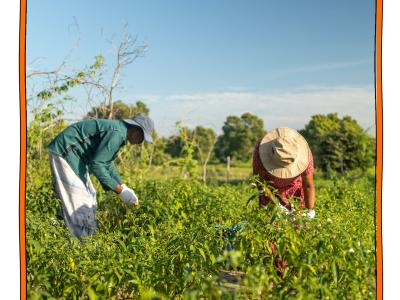
[[[138,113],[151,116],[141,101],[115,101],[112,109],[110,112],[106,105],[93,107],[84,118],[124,119]],[[29,159],[40,158],[46,144],[66,125],[56,105],[36,112],[28,128]],[[206,176],[207,164],[226,163],[228,157],[233,163],[249,163],[254,145],[266,133],[263,120],[248,112],[228,116],[220,135],[203,126],[189,128],[180,122],[176,125],[177,133],[169,137],[159,137],[155,131],[154,144],[136,147],[132,159],[137,163],[145,160],[146,166],[185,165],[188,172],[197,164],[203,166]],[[315,166],[325,172],[365,170],[375,163],[375,139],[350,116],[314,115],[299,132],[310,145]]]

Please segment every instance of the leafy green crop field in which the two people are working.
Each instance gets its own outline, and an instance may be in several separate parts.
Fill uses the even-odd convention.
[[[374,177],[315,182],[313,220],[259,209],[247,180],[131,178],[137,208],[97,186],[98,231],[79,242],[57,217],[50,178],[37,178],[28,298],[375,299]]]

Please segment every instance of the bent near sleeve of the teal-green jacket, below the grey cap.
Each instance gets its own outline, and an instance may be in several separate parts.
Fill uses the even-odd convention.
[[[124,137],[117,130],[108,131],[101,139],[94,153],[89,169],[101,182],[102,186],[109,190],[115,190],[121,183],[121,178],[112,163],[119,148],[124,142]]]

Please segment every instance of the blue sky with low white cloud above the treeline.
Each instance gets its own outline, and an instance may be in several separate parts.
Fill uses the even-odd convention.
[[[328,112],[349,114],[367,128],[375,113],[374,5],[28,0],[28,68],[52,69],[72,48],[68,63],[75,68],[98,53],[112,65],[106,39],[118,38],[127,22],[149,48],[124,69],[116,98],[144,101],[162,135],[178,120],[219,132],[226,116],[247,111],[266,129],[299,129],[311,115]],[[85,103],[85,95],[76,98]]]

